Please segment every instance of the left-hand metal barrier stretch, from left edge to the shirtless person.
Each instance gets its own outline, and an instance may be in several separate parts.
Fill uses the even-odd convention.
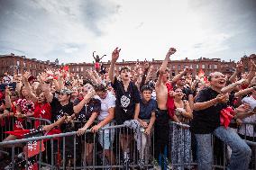
[[[124,139],[123,143],[120,142],[121,138]],[[115,125],[104,127],[97,133],[87,130],[81,137],[78,137],[77,131],[70,131],[5,141],[0,142],[0,148],[5,148],[6,145],[12,146],[11,164],[5,166],[5,169],[18,169],[20,166],[30,169],[32,163],[39,169],[129,169],[139,166],[149,169],[153,166],[151,164],[153,162],[152,138],[153,132],[147,137],[144,133],[138,133],[138,130],[127,129],[125,125]],[[48,140],[44,141],[46,139]],[[149,142],[151,142],[150,145]],[[17,144],[29,145],[29,147],[23,149],[22,155],[17,156],[14,153]],[[45,154],[46,145],[50,145],[48,155]],[[130,162],[126,165],[123,146],[127,147],[126,153],[130,152]],[[29,150],[34,151],[36,147],[40,152],[37,156],[30,157]],[[18,163],[19,159],[23,159],[23,162]],[[143,164],[142,160],[144,160]]]

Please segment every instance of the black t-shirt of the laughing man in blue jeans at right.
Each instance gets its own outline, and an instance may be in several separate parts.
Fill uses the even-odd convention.
[[[203,103],[214,99],[218,95],[212,88],[206,87],[197,95],[195,103]],[[233,100],[233,94],[229,96]],[[217,103],[205,110],[194,111],[190,130],[196,134],[212,133],[220,126],[220,111],[228,106],[227,103]]]

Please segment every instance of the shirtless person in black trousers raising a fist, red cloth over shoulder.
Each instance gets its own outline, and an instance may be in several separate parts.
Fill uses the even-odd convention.
[[[164,153],[164,149],[168,146],[169,138],[169,116],[177,121],[177,117],[173,114],[174,112],[174,101],[171,96],[172,86],[169,82],[169,70],[167,64],[170,55],[174,54],[176,49],[170,48],[165,59],[162,62],[156,83],[156,97],[158,103],[158,111],[156,112],[156,123],[155,123],[155,157],[159,157],[160,154]]]

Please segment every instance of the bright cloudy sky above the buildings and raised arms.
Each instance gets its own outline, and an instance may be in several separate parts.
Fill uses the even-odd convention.
[[[0,0],[0,54],[60,63],[256,53],[256,0]]]

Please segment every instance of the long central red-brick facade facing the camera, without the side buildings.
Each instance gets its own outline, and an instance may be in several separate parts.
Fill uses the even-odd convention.
[[[139,63],[143,66],[143,61],[122,61],[117,62],[115,70],[119,70],[120,67],[128,66],[133,69]],[[110,61],[102,62],[104,67],[110,67]],[[156,73],[162,64],[162,60],[152,60],[153,73]],[[94,69],[94,63],[69,63],[69,70],[74,75],[85,76],[86,70]],[[234,61],[222,61],[220,58],[198,58],[198,59],[183,59],[183,60],[170,60],[168,64],[170,73],[172,76],[177,75],[185,67],[192,67],[192,75],[196,76],[200,69],[208,75],[211,72],[220,71],[224,74],[232,74],[235,67]]]

